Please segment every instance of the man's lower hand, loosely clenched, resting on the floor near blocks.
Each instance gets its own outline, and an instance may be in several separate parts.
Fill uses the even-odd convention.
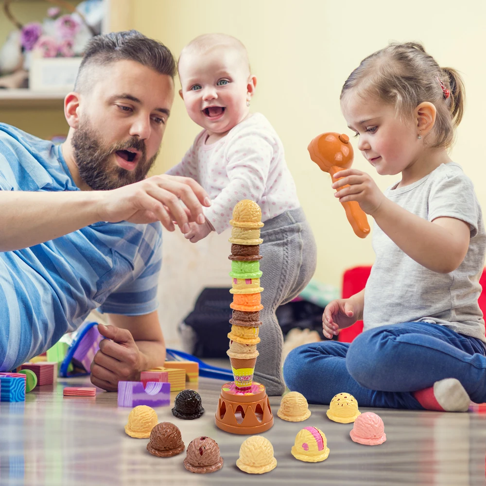
[[[98,324],[100,349],[91,363],[91,383],[106,391],[117,391],[119,381],[139,381],[146,369],[145,358],[129,330]]]

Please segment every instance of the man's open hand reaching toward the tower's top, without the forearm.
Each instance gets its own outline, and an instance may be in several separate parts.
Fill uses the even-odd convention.
[[[160,221],[169,231],[174,231],[175,221],[184,233],[189,231],[190,221],[199,224],[206,221],[202,206],[211,205],[208,193],[194,179],[176,175],[154,175],[134,184],[97,193],[100,197],[99,221]]]

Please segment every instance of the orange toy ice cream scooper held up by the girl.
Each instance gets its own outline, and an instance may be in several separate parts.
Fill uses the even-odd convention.
[[[336,174],[344,169],[349,169],[353,163],[353,147],[349,143],[347,135],[326,132],[315,137],[307,147],[311,160],[315,162],[321,171],[329,172],[332,182],[336,182]],[[348,185],[343,188],[349,187]],[[341,188],[341,189],[343,189]],[[354,234],[360,238],[366,238],[369,234],[366,214],[357,201],[341,203],[346,211],[347,220],[353,228]]]

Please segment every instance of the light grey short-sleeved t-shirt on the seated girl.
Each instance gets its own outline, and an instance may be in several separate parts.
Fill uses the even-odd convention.
[[[478,305],[486,233],[469,177],[450,162],[413,184],[400,188],[395,184],[384,194],[427,221],[439,217],[464,221],[470,228],[469,249],[458,268],[440,274],[411,259],[375,224],[376,260],[364,291],[364,330],[422,321],[486,342],[485,321]]]

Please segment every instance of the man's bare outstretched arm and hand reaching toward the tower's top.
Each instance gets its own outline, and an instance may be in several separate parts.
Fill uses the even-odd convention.
[[[195,180],[165,174],[111,191],[0,191],[0,252],[54,240],[98,221],[160,221],[174,231],[175,220],[186,233],[190,221],[206,221],[203,205],[210,204]]]

